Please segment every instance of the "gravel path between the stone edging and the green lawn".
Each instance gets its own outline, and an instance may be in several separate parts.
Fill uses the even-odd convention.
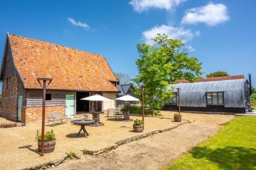
[[[99,156],[82,156],[56,169],[158,169],[179,158],[196,144],[221,129],[231,115],[186,114],[192,123],[156,134]]]

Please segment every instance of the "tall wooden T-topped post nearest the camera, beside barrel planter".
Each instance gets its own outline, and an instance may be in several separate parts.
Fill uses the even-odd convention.
[[[49,84],[52,82],[52,79],[48,78],[36,78],[40,86],[42,87],[42,131],[41,131],[41,156],[44,156],[45,149],[45,119],[46,119],[46,89]],[[41,84],[40,80],[43,81]],[[49,81],[48,85],[46,82]]]

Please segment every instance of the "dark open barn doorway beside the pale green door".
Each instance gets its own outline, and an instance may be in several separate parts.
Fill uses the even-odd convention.
[[[89,112],[89,101],[81,100],[89,96],[89,92],[77,91],[76,92],[76,114],[84,114]]]

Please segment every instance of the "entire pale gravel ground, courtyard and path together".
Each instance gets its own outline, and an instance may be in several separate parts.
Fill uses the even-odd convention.
[[[182,113],[183,119],[191,123],[177,129],[159,133],[138,141],[120,145],[116,150],[98,156],[83,156],[81,150],[97,151],[111,147],[115,142],[155,130],[175,127],[174,112],[162,111],[160,117],[145,117],[143,133],[134,133],[133,122],[115,121],[113,117],[101,116],[101,127],[87,127],[89,137],[75,135],[80,127],[62,124],[53,129],[56,133],[56,148],[53,153],[40,157],[35,141],[36,130],[40,124],[26,127],[0,129],[0,169],[22,169],[61,159],[66,152],[74,151],[80,160],[68,161],[57,166],[58,169],[156,169],[177,158],[196,143],[214,135],[221,124],[228,122],[233,115],[210,115]],[[131,116],[131,118],[139,118]],[[0,118],[0,122],[4,122]]]

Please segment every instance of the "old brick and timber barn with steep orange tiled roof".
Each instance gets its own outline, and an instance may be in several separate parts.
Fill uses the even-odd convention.
[[[22,123],[40,122],[42,89],[36,79],[41,77],[53,79],[46,91],[46,119],[53,112],[73,117],[91,108],[116,107],[119,81],[103,55],[7,34],[0,74],[0,116]],[[111,101],[80,100],[94,94]]]

